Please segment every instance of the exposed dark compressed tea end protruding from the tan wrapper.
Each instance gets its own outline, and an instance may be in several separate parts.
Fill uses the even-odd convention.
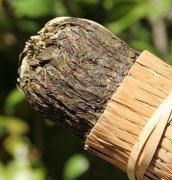
[[[138,55],[95,22],[56,18],[26,43],[18,85],[34,109],[85,138]]]

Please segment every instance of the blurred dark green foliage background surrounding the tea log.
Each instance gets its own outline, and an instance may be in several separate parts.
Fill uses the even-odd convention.
[[[57,16],[88,18],[172,63],[172,0],[0,0],[0,180],[125,180],[16,89],[25,41]]]

